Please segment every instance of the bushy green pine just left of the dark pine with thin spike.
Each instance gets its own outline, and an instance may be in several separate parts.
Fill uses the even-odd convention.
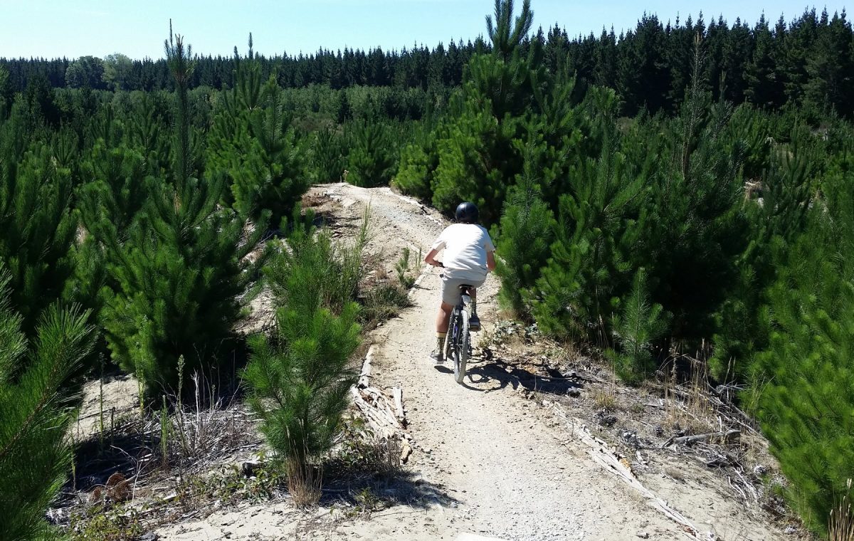
[[[643,209],[656,164],[650,149],[658,143],[647,140],[643,153],[630,146],[624,153],[613,120],[603,116],[602,122],[601,156],[580,160],[571,174],[569,191],[559,198],[551,257],[535,287],[537,323],[564,338],[610,334],[611,314],[629,291],[650,228]]]

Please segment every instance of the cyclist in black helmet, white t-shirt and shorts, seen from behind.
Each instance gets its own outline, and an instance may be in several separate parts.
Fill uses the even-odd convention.
[[[447,226],[424,258],[434,267],[444,267],[442,276],[442,304],[436,315],[436,350],[430,358],[436,363],[445,362],[445,336],[453,307],[459,303],[459,286],[471,285],[471,331],[480,331],[477,318],[477,287],[486,281],[487,273],[495,268],[495,246],[483,226],[477,225],[477,207],[474,203],[459,203],[457,223]],[[436,254],[445,250],[442,262]]]

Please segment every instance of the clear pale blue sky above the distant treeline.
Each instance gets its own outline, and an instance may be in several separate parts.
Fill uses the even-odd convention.
[[[640,15],[684,21],[702,11],[705,21],[723,15],[730,24],[740,17],[751,25],[759,15],[772,23],[787,21],[808,5],[833,15],[845,0],[815,4],[804,0],[532,0],[534,27],[558,23],[570,35],[597,35],[603,26],[617,34],[635,26]],[[517,0],[517,9],[521,5]],[[435,46],[485,32],[484,15],[493,0],[0,0],[0,57],[83,55],[121,52],[132,58],[160,58],[169,19],[199,54],[230,55],[246,50],[252,32],[254,49],[268,56],[325,49],[401,49],[412,44]]]

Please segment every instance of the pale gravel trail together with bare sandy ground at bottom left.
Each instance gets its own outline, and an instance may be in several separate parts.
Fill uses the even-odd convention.
[[[431,209],[395,195],[388,188],[364,190],[349,185],[314,188],[331,197],[355,223],[371,206],[369,254],[391,268],[405,246],[426,253],[444,221]],[[453,381],[450,368],[435,367],[428,353],[435,342],[438,272],[424,269],[410,293],[412,306],[371,333],[375,344],[373,385],[400,386],[415,448],[403,481],[407,503],[369,520],[322,520],[306,528],[278,506],[254,506],[237,515],[213,515],[204,525],[187,524],[161,531],[161,538],[313,538],[313,539],[457,539],[473,533],[500,539],[686,539],[686,532],[646,505],[633,489],[605,472],[571,438],[547,409],[514,391],[518,379],[503,369],[475,360],[465,385]],[[492,326],[498,279],[490,276],[479,293],[484,329]],[[477,346],[477,341],[476,341]],[[669,495],[679,494],[678,487]],[[727,538],[776,538],[770,532],[748,537],[733,526],[723,532],[705,510],[733,520],[735,511],[705,494],[671,504],[714,527]],[[321,515],[323,512],[321,511]],[[712,514],[713,515],[713,514]],[[225,520],[224,520],[225,516]],[[228,517],[231,518],[228,518]],[[737,520],[737,519],[736,519]],[[298,526],[302,524],[303,526]],[[736,521],[734,523],[738,525]],[[754,525],[755,526],[755,525]],[[726,528],[725,528],[726,529]],[[761,530],[761,529],[760,529]],[[646,537],[644,537],[646,536]]]

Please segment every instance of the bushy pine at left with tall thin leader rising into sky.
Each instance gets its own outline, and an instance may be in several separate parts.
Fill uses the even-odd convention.
[[[172,182],[148,179],[148,200],[126,239],[114,227],[97,230],[113,254],[102,318],[110,350],[155,397],[178,391],[180,356],[190,372],[217,368],[249,302],[249,280],[266,258],[244,257],[263,234],[266,215],[243,238],[243,221],[219,208],[224,177],[192,176],[186,115],[192,64],[180,36],[167,42],[167,61],[178,102]]]

